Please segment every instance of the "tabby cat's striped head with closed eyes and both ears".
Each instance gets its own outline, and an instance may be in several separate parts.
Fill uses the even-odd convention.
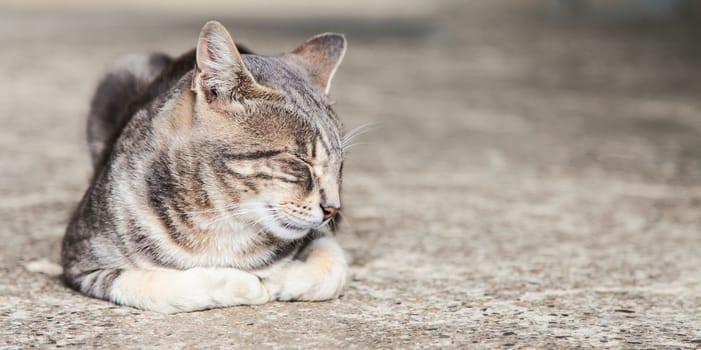
[[[328,93],[345,50],[342,35],[321,34],[280,56],[242,56],[221,24],[204,26],[191,136],[215,207],[284,239],[336,215],[342,125]]]

